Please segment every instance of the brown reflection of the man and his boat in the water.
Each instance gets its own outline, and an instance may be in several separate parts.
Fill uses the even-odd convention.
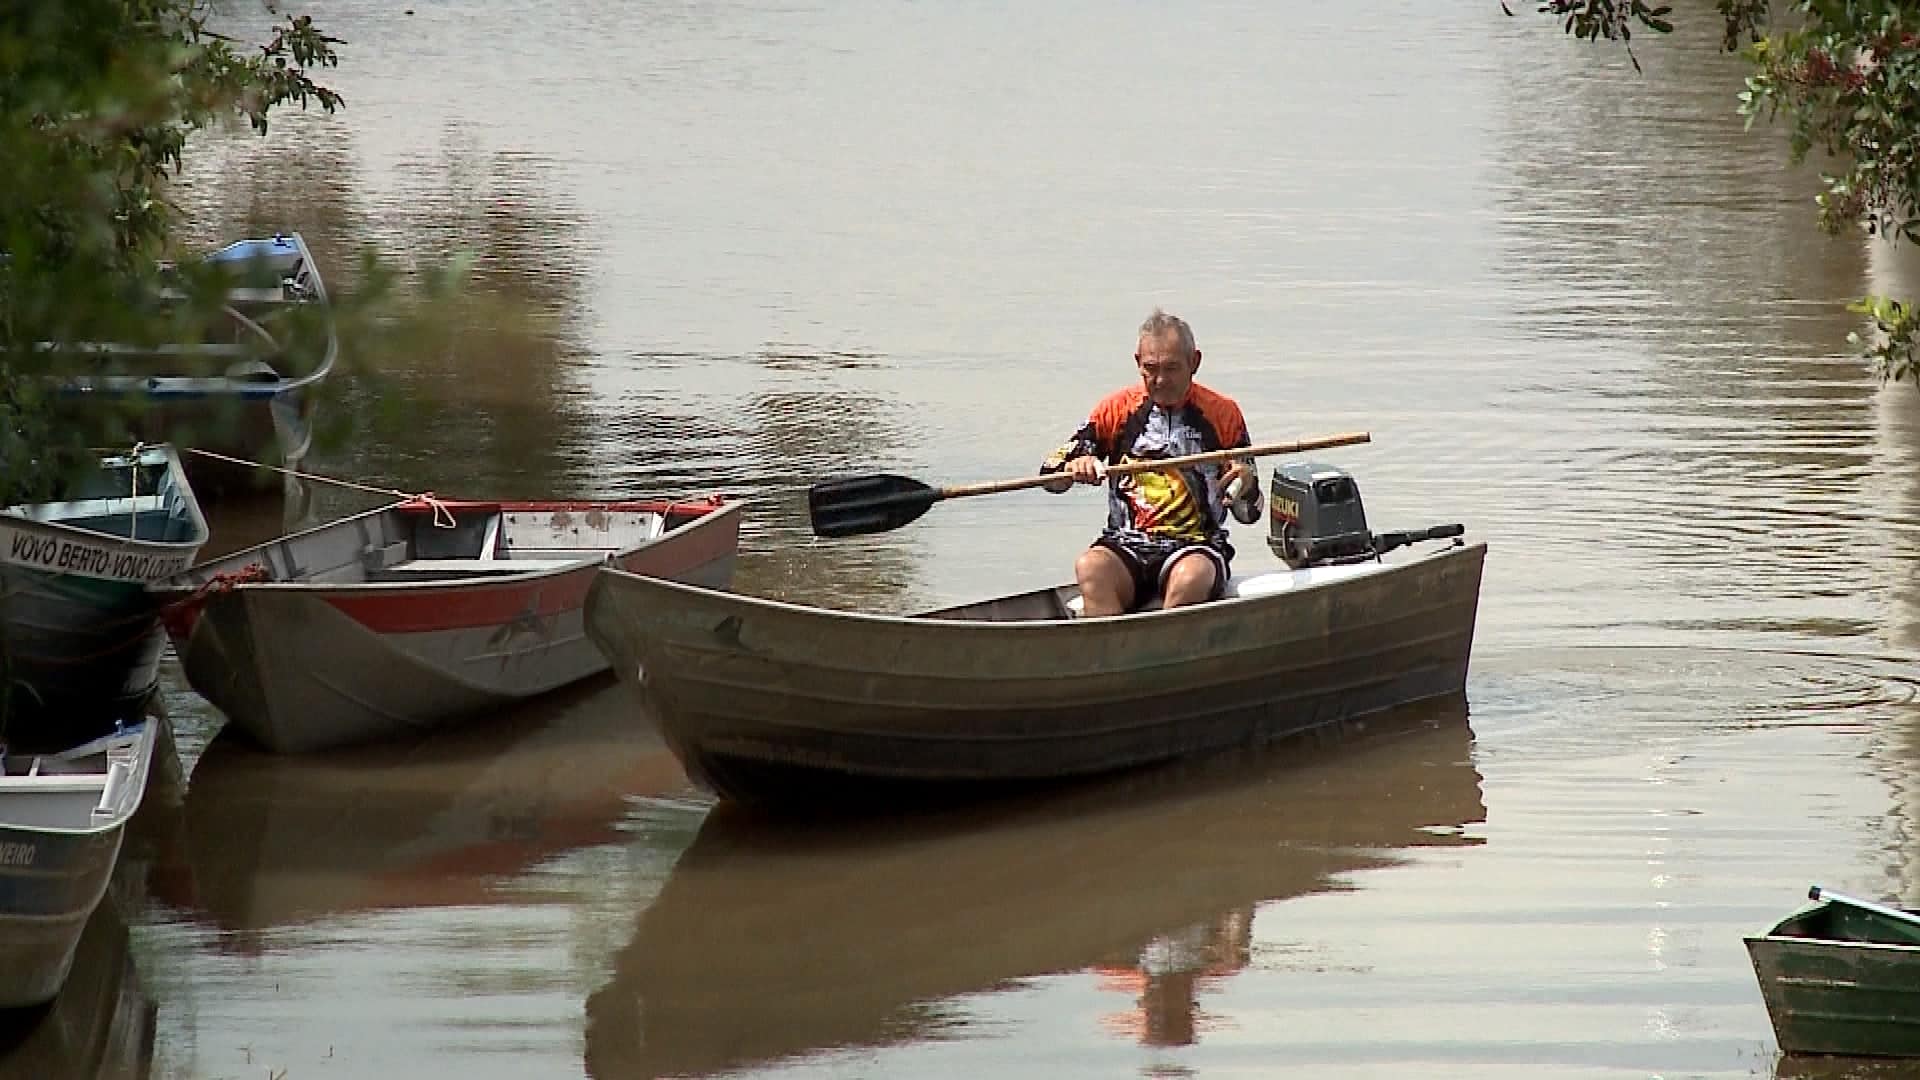
[[[588,999],[601,1080],[937,1038],[950,997],[1091,970],[1127,1038],[1187,1043],[1256,911],[1480,844],[1463,701],[1346,746],[1167,767],[993,807],[780,822],[718,807]]]

